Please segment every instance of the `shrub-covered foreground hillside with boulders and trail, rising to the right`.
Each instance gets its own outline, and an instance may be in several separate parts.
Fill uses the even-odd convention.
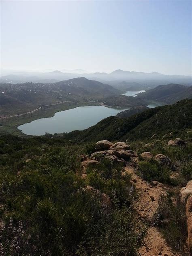
[[[192,180],[191,107],[0,136],[0,254],[189,255],[180,191]]]

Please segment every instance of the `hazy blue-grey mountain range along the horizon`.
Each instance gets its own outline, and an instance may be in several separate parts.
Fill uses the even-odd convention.
[[[111,73],[83,73],[83,70],[77,70],[77,73],[70,72],[62,72],[60,70],[55,70],[51,72],[45,73],[17,73],[10,74],[6,76],[0,77],[0,82],[12,82],[12,83],[21,83],[21,82],[42,82],[49,81],[53,83],[53,81],[62,81],[66,79],[73,79],[79,77],[79,73],[81,73],[82,77],[92,80],[98,80],[103,83],[108,83],[106,81],[116,81],[116,85],[119,85],[122,81],[124,82],[135,82],[139,83],[139,85],[154,85],[154,87],[158,84],[167,84],[167,83],[181,83],[186,85],[192,85],[192,77],[191,76],[183,76],[183,75],[163,75],[157,72],[152,73],[144,73],[144,72],[135,72],[135,71],[124,71],[124,70],[115,70]],[[79,73],[78,73],[79,72]]]

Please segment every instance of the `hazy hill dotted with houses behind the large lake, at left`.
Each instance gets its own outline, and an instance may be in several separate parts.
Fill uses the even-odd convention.
[[[58,72],[60,73],[60,71]],[[0,84],[0,116],[25,113],[40,105],[55,104],[62,101],[98,100],[121,93],[120,90],[111,85],[88,80],[84,77],[45,84],[2,83]]]

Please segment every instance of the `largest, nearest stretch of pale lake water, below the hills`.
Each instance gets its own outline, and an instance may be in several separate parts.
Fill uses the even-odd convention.
[[[68,109],[55,113],[53,117],[41,118],[18,127],[28,135],[44,135],[49,133],[71,132],[84,130],[97,124],[102,119],[126,109],[113,109],[104,106],[86,106]]]

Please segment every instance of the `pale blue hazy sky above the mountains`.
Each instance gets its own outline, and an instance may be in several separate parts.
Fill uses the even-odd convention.
[[[192,73],[191,1],[1,1],[3,69]]]

